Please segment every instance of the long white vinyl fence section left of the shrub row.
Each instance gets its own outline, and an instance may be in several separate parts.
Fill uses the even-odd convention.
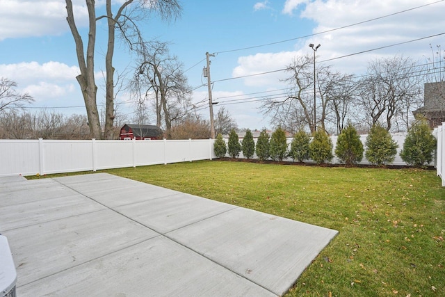
[[[0,140],[0,177],[213,159],[213,142]]]

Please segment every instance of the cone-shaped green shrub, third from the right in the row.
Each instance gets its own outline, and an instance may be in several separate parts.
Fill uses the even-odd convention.
[[[335,154],[346,166],[351,166],[362,161],[363,152],[363,143],[360,141],[360,136],[349,122],[348,126],[341,131],[337,139]]]

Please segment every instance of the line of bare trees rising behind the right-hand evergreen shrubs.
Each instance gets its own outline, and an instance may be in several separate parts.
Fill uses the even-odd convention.
[[[387,131],[407,131],[414,120],[412,111],[423,104],[423,83],[443,72],[442,68],[437,72],[436,64],[421,64],[403,56],[379,58],[371,61],[360,77],[321,64],[314,82],[314,58],[300,56],[286,67],[289,77],[284,82],[289,84],[289,93],[284,98],[266,99],[261,109],[275,125],[291,133],[323,129],[338,135],[348,121],[362,134],[375,125]]]

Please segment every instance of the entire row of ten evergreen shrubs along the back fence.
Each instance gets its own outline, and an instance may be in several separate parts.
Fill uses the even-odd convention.
[[[375,125],[371,129],[366,137],[365,146],[366,150],[357,130],[348,123],[337,139],[334,153],[346,166],[353,166],[362,161],[363,156],[375,165],[384,166],[394,161],[398,148],[391,134],[380,125]],[[235,130],[230,131],[227,145],[221,134],[218,134],[214,143],[214,151],[218,158],[224,157],[227,153],[232,158],[236,158],[240,152],[243,152],[243,156],[247,159],[252,158],[256,153],[261,161],[269,158],[282,161],[291,157],[293,161],[303,162],[312,159],[318,164],[332,161],[334,158],[332,148],[330,137],[320,129],[314,133],[313,137],[305,131],[298,131],[293,136],[289,148],[286,143],[286,133],[281,127],[277,128],[270,138],[266,129],[263,129],[259,134],[257,145],[254,143],[250,130],[246,131],[241,143]],[[432,161],[435,148],[436,139],[432,136],[428,123],[418,120],[408,131],[400,156],[408,165],[421,167]]]

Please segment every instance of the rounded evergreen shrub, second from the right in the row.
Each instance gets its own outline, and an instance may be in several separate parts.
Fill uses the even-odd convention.
[[[397,143],[391,134],[380,125],[374,125],[366,137],[365,156],[368,161],[383,166],[394,161],[397,154]]]

